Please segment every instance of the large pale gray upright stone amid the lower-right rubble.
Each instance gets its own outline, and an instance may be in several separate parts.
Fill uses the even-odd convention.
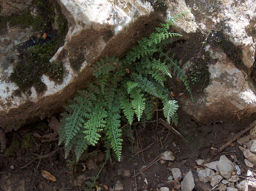
[[[226,179],[230,179],[231,173],[234,171],[234,168],[231,164],[231,161],[226,158],[225,155],[220,156],[220,160],[217,163],[218,171]]]

